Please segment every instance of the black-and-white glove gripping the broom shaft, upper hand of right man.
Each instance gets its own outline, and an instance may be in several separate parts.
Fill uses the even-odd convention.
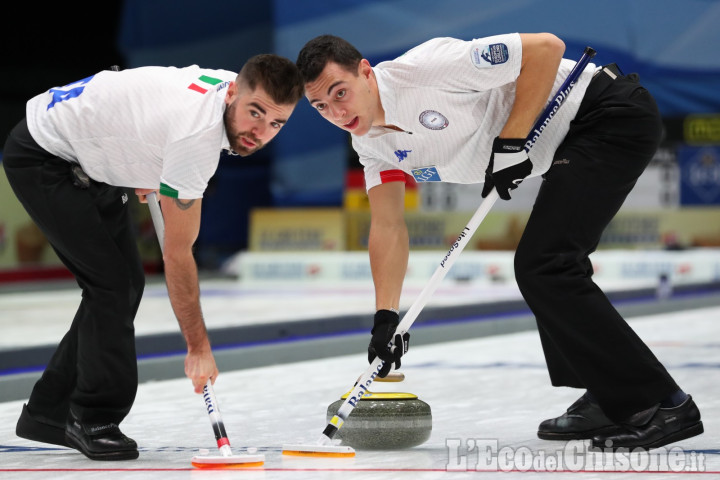
[[[487,197],[495,187],[500,198],[510,200],[510,190],[515,190],[530,172],[532,162],[525,151],[525,139],[495,137],[481,195]]]

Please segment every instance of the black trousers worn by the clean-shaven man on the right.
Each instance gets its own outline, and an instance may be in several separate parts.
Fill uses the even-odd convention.
[[[598,73],[544,175],[515,255],[552,384],[588,389],[614,420],[678,389],[593,282],[588,259],[661,131],[657,105],[636,75]]]

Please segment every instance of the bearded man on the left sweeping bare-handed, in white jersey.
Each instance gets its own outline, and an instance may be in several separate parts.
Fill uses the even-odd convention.
[[[16,427],[95,460],[138,457],[118,425],[137,391],[133,320],[144,273],[127,193],[160,192],[170,302],[187,343],[195,392],[218,375],[192,253],[201,201],[223,149],[266,145],[303,92],[293,62],[258,55],[240,73],[142,67],[103,71],[27,103],[3,165],[10,185],[82,288],[70,330]]]

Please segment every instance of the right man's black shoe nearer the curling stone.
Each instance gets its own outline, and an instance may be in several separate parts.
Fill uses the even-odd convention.
[[[614,430],[616,425],[605,416],[600,405],[580,397],[557,418],[545,420],[538,427],[538,438],[543,440],[585,440],[603,432]]]

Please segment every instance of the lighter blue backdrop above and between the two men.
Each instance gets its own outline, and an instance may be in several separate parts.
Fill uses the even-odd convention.
[[[299,3],[307,8],[299,10]],[[718,25],[720,2],[709,0],[278,0],[274,45],[277,53],[296,58],[307,40],[331,33],[375,64],[438,36],[469,40],[549,31],[565,41],[568,58],[579,58],[590,45],[598,64],[618,62],[624,71],[638,72],[662,113],[674,116],[720,111]],[[342,187],[337,182],[345,167],[345,134],[329,131],[309,110],[297,112],[296,134],[279,139],[275,195],[288,203],[311,194],[331,201]],[[305,169],[325,173],[313,178],[312,192],[297,181]]]

